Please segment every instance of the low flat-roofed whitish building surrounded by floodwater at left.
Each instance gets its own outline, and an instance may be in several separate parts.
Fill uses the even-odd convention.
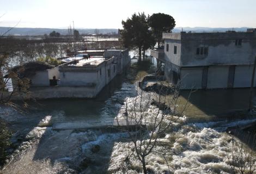
[[[126,50],[105,50],[101,56],[84,56],[53,67],[45,63],[25,64],[32,96],[45,98],[94,98],[129,65],[131,58]],[[18,67],[16,67],[18,69]]]

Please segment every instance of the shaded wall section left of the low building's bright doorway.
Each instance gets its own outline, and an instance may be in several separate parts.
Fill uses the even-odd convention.
[[[36,71],[35,75],[31,77],[31,86],[50,86],[48,71]]]

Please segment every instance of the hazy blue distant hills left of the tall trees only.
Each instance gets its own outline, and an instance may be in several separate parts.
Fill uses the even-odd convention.
[[[0,34],[5,33],[9,27],[0,27]],[[61,35],[68,34],[68,29],[58,28],[13,28],[8,32],[8,35],[44,35],[50,34],[53,30]],[[94,34],[95,29],[77,29],[80,34]],[[100,34],[118,33],[118,29],[98,29]]]

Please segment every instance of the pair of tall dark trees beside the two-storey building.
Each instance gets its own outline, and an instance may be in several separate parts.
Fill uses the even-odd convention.
[[[163,32],[170,32],[175,27],[175,20],[172,16],[158,13],[146,16],[144,13],[135,13],[131,18],[122,21],[123,28],[120,30],[121,41],[126,48],[138,48],[139,61],[143,59],[145,50],[155,46],[156,42],[160,47]]]

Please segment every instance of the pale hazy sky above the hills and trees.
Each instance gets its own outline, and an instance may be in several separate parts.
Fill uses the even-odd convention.
[[[256,0],[0,0],[0,26],[121,28],[133,13],[172,15],[176,27],[254,27]]]

